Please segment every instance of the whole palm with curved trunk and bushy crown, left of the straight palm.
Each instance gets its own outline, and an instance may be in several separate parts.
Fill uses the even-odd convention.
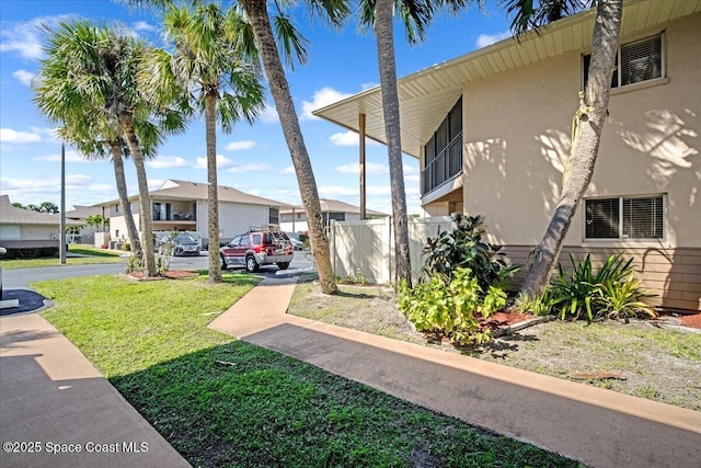
[[[141,41],[120,36],[110,27],[92,26],[85,21],[62,22],[57,31],[51,32],[47,49],[49,59],[54,55],[56,60],[65,61],[67,77],[61,87],[45,91],[47,102],[62,105],[66,111],[64,118],[68,122],[80,122],[84,112],[99,110],[111,125],[118,125],[122,132],[136,167],[139,186],[143,267],[147,275],[153,276],[157,267],[151,198],[141,140],[160,141],[163,133],[182,129],[181,114],[154,107],[138,88],[138,67],[148,49]],[[147,125],[156,114],[161,125]]]

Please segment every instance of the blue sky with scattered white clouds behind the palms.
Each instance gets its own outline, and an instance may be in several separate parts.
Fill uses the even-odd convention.
[[[225,1],[226,4],[226,1]],[[321,121],[311,111],[379,83],[375,36],[357,31],[350,21],[342,31],[310,24],[307,12],[294,11],[297,26],[310,41],[309,61],[288,70],[288,80],[320,196],[359,204],[357,135]],[[12,202],[38,204],[60,201],[60,142],[55,124],[46,121],[32,102],[30,81],[38,70],[45,36],[37,27],[61,20],[88,19],[94,24],[124,25],[128,34],[162,45],[158,12],[128,9],[108,0],[0,1],[0,193]],[[486,12],[471,9],[460,16],[441,15],[429,27],[427,39],[410,47],[395,27],[398,76],[502,39],[508,22],[496,2]],[[231,134],[218,134],[220,185],[284,203],[299,204],[299,189],[273,100],[254,125],[241,123]],[[168,179],[206,182],[205,134],[200,121],[172,137],[147,165],[149,186]],[[117,197],[114,171],[108,162],[85,161],[67,148],[68,209]],[[391,213],[387,148],[367,148],[368,208]],[[137,193],[136,174],[127,161],[129,194]],[[420,213],[418,163],[404,157],[410,213]]]

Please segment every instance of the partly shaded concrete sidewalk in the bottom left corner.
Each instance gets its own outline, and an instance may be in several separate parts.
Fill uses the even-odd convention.
[[[37,313],[0,318],[0,442],[2,467],[189,466]]]

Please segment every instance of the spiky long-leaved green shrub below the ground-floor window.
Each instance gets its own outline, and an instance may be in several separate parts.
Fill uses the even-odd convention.
[[[652,295],[640,289],[640,279],[633,278],[633,259],[624,262],[621,254],[611,255],[594,273],[589,255],[576,262],[572,254],[573,270],[565,272],[558,265],[559,275],[552,285],[553,306],[559,308],[562,320],[577,320],[585,313],[589,323],[595,319],[620,318],[625,320],[636,313],[655,316],[654,309],[642,303]]]

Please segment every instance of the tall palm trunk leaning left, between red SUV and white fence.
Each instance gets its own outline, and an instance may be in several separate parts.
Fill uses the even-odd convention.
[[[273,36],[273,28],[267,13],[267,2],[261,0],[242,0],[240,2],[251,21],[255,42],[265,67],[265,75],[271,83],[271,93],[280,117],[285,140],[292,158],[292,165],[297,173],[297,183],[302,197],[304,212],[307,213],[307,222],[309,225],[309,233],[311,241],[311,251],[317,263],[319,272],[319,284],[324,294],[336,293],[336,279],[331,267],[331,252],[329,250],[329,240],[324,231],[323,219],[321,216],[321,204],[319,202],[319,191],[317,190],[317,181],[311,168],[311,161],[307,152],[304,139],[302,137],[295,103],[289,93],[289,84],[285,77],[283,62],[277,53],[277,45]]]

